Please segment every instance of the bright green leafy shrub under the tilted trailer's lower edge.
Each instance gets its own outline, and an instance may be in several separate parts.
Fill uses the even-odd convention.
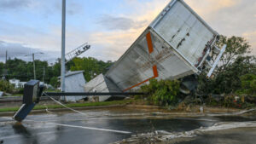
[[[148,101],[156,105],[167,106],[177,102],[180,82],[175,80],[151,79],[149,84],[143,85],[141,90],[148,93]]]

